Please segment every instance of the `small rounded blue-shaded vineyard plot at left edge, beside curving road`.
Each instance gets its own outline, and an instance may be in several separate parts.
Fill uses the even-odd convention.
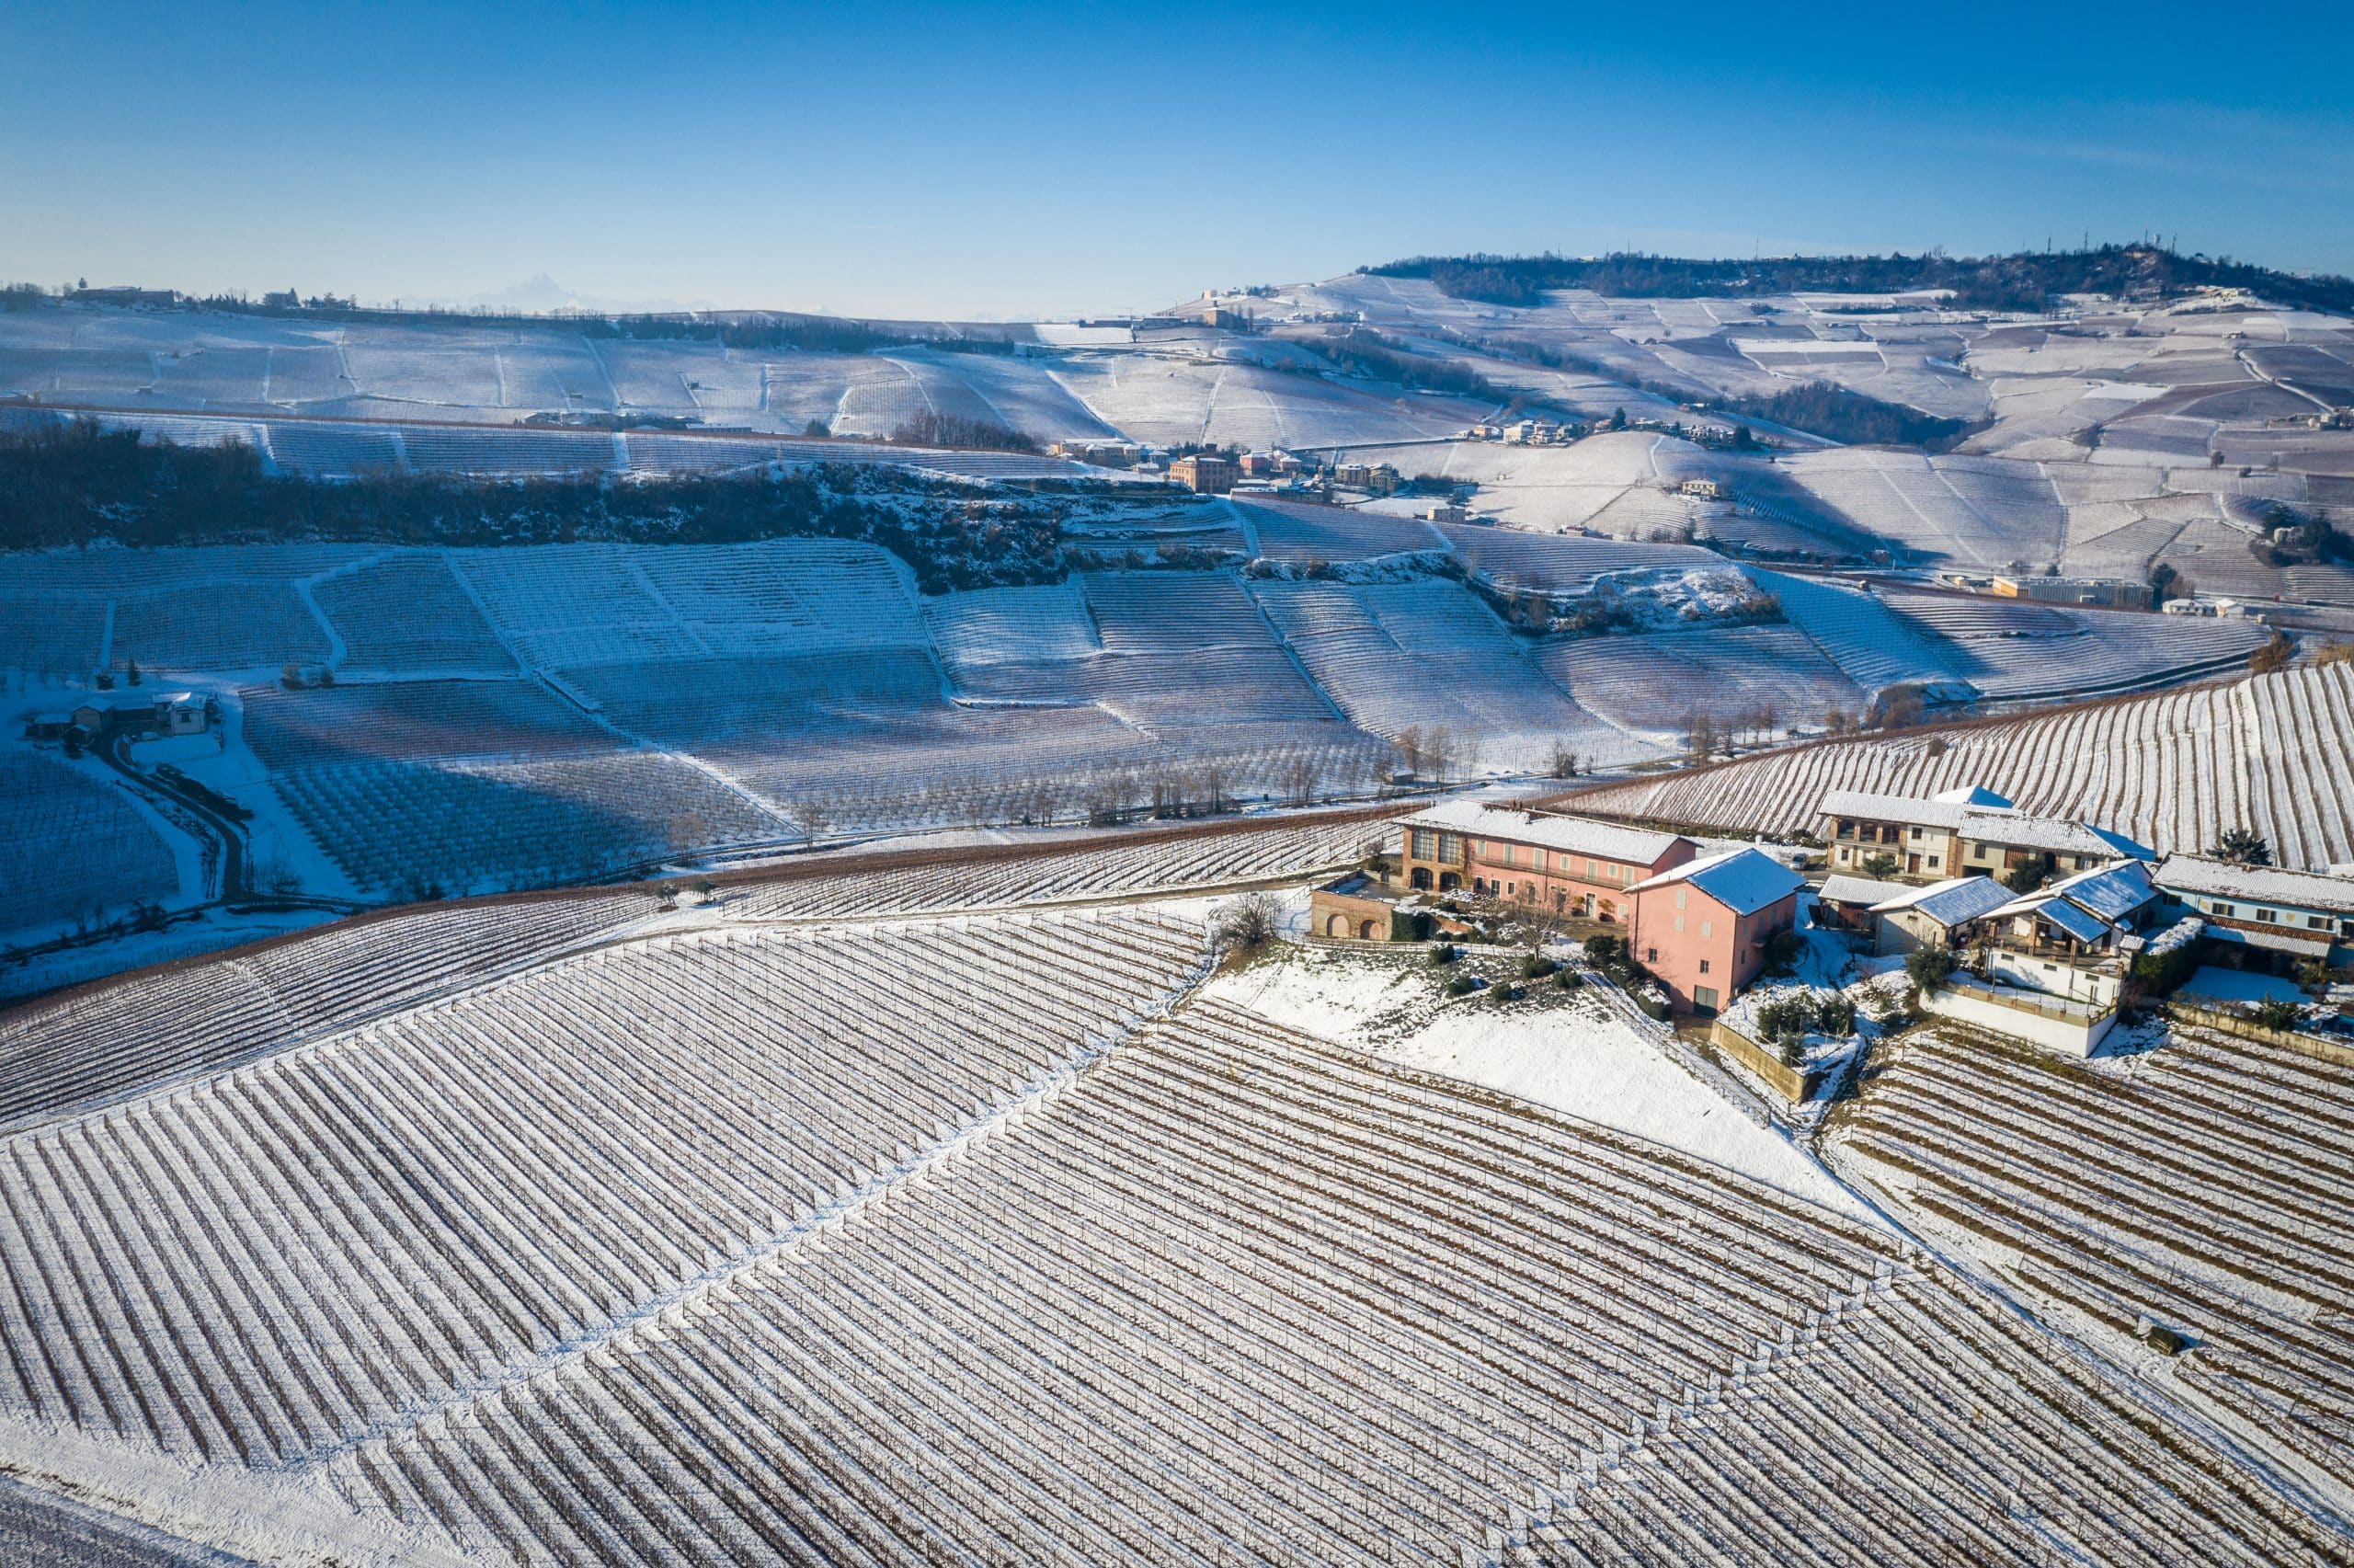
[[[122,786],[0,749],[0,932],[167,902],[179,862]]]

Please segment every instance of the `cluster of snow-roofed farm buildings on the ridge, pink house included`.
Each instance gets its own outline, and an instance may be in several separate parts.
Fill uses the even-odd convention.
[[[1627,951],[1688,1015],[1721,1012],[1801,923],[1874,954],[1949,949],[1935,1003],[1970,1022],[2090,1050],[2142,954],[2236,949],[2250,968],[2354,963],[2354,876],[2159,857],[2133,838],[2017,810],[1987,789],[1822,798],[1827,878],[1758,848],[1474,800],[1401,822],[1394,862],[1318,888],[1311,932],[1391,942],[1469,930],[1478,909],[1624,928]],[[1787,944],[1784,944],[1787,946]],[[2022,1017],[2010,1017],[2022,1015]]]

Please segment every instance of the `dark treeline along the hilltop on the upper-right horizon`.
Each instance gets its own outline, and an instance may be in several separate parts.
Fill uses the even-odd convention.
[[[1754,297],[1791,292],[1890,294],[1954,290],[1966,311],[2041,311],[2057,294],[2182,294],[2239,287],[2316,311],[2354,311],[2354,278],[2295,278],[2232,257],[2185,257],[2152,245],[2020,252],[2010,257],[1763,257],[1700,261],[1688,257],[1410,257],[1368,266],[1382,278],[1429,278],[1457,299],[1540,306],[1547,290],[1594,290],[1624,299],[1693,294]]]

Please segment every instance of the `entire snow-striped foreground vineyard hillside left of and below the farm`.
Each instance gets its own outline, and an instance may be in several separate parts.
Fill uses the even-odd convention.
[[[1193,998],[1201,904],[1128,902],[1351,831],[468,906],[21,1015],[0,1455],[344,1561],[2347,1556],[1888,1231]],[[108,1017],[238,1045],[141,1074]]]

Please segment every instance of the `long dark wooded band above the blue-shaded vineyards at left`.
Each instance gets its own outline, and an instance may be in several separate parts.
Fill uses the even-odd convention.
[[[746,544],[866,539],[925,593],[1059,582],[1057,509],[982,501],[897,469],[829,464],[652,483],[271,476],[252,447],[184,447],[75,421],[0,433],[0,549],[172,544]]]

